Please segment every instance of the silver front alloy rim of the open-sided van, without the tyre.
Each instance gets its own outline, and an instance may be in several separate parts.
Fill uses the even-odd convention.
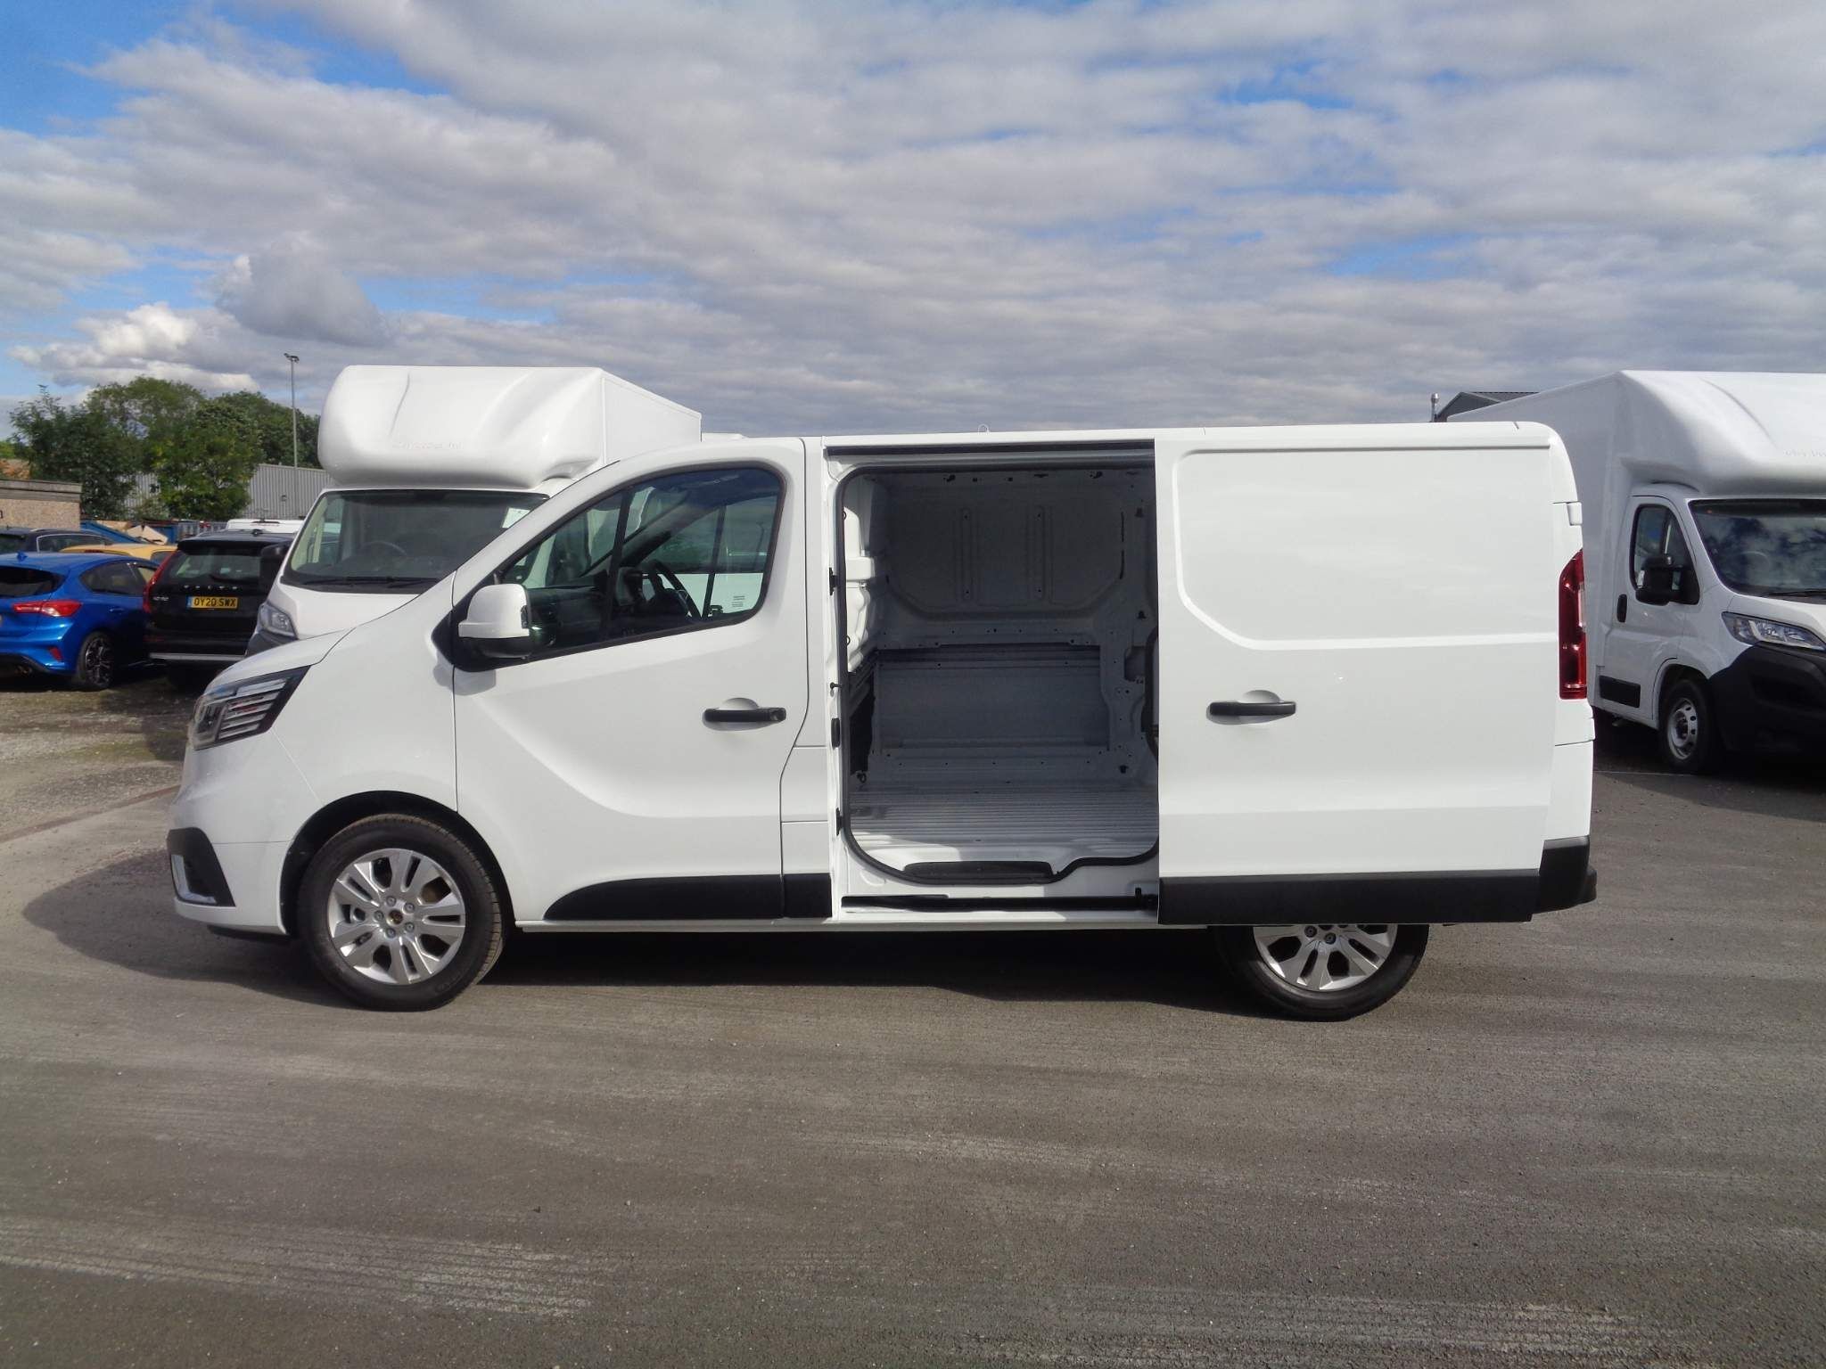
[[[323,909],[331,946],[380,984],[422,984],[456,955],[467,909],[449,871],[405,847],[349,862]]]

